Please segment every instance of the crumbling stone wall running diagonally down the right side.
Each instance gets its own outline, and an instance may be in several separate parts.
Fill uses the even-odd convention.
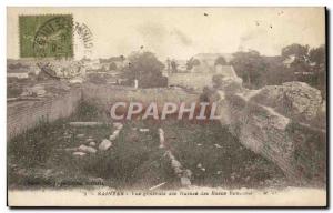
[[[223,97],[221,123],[244,146],[276,163],[292,181],[325,182],[326,130],[287,118],[242,93]]]

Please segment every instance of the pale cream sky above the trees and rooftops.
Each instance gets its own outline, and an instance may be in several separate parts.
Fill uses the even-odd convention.
[[[325,43],[324,8],[8,8],[7,58],[19,58],[20,14],[72,14],[92,32],[90,58],[151,51],[159,59]],[[87,55],[74,36],[74,58]]]

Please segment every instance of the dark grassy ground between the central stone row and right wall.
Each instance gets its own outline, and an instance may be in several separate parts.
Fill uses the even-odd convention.
[[[175,158],[193,172],[195,185],[261,187],[272,182],[285,184],[280,168],[245,149],[226,126],[219,122],[178,122],[168,121],[163,129]]]

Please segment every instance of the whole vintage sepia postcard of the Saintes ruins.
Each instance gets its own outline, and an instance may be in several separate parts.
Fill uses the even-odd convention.
[[[9,206],[327,205],[325,8],[7,8]]]

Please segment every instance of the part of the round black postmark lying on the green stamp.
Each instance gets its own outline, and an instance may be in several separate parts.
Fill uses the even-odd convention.
[[[36,32],[33,54],[36,58],[72,58],[72,19],[54,17],[46,21]]]

